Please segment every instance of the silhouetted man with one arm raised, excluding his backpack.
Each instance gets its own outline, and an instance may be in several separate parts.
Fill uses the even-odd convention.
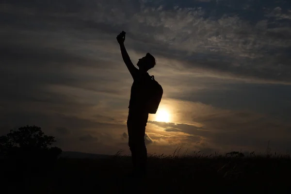
[[[129,149],[131,151],[131,158],[136,175],[146,175],[146,144],[145,132],[146,123],[148,119],[148,82],[151,77],[147,71],[156,65],[155,58],[146,53],[146,56],[139,59],[137,69],[131,62],[129,55],[125,49],[125,32],[119,33],[116,37],[124,63],[129,69],[133,78],[131,86],[131,94],[129,100],[129,115],[127,120],[129,133]]]

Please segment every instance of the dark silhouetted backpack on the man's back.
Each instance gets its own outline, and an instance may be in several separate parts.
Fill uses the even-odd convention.
[[[150,76],[148,84],[148,100],[147,100],[147,111],[150,114],[157,113],[160,102],[162,100],[162,86],[155,80],[154,76]]]

